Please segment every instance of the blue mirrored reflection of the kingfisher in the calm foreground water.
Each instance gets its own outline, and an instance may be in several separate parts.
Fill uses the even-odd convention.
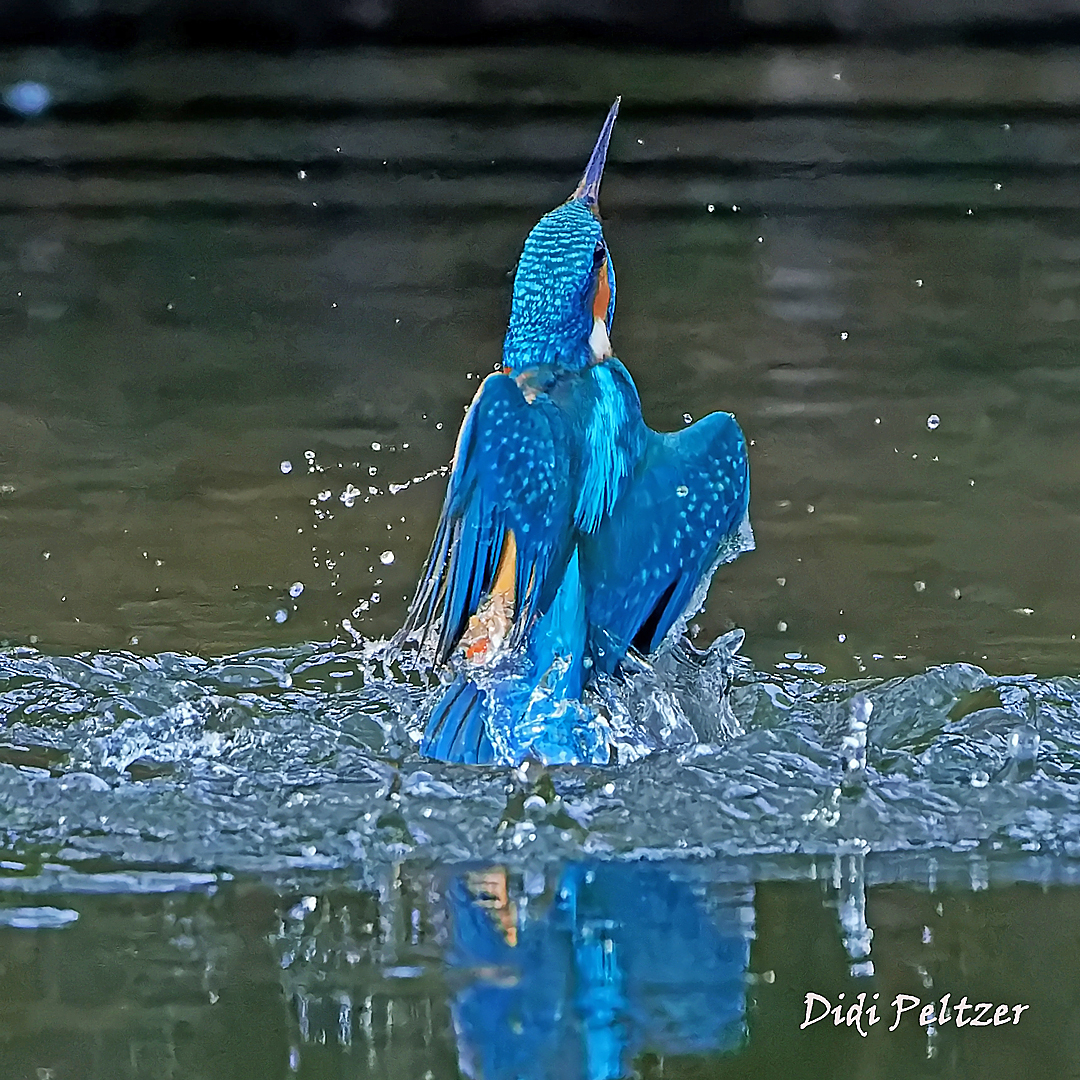
[[[570,864],[522,917],[507,872],[449,882],[450,1005],[461,1071],[485,1080],[613,1080],[643,1052],[732,1051],[746,1037],[752,924],[658,866]],[[512,935],[508,928],[512,927]]]

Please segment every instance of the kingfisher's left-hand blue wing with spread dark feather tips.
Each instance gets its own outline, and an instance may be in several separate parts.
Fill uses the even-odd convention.
[[[509,375],[484,380],[458,434],[435,540],[403,631],[437,633],[440,662],[490,595],[504,552],[514,564],[511,639],[551,603],[571,548],[569,437],[562,410],[544,394],[528,402]]]

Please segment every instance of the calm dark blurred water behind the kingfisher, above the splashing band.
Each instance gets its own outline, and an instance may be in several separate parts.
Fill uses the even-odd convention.
[[[669,16],[5,8],[0,635],[399,625],[521,243],[621,93],[616,350],[654,427],[752,441],[758,551],[702,631],[839,677],[1075,671],[1071,8]]]

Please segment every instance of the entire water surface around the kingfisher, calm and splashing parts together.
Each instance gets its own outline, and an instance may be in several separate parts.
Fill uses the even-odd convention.
[[[52,94],[0,129],[3,1075],[1075,1067],[1062,58],[588,59],[0,57]],[[752,440],[691,627],[745,639],[602,685],[618,767],[424,761],[383,639],[608,81],[613,343]]]

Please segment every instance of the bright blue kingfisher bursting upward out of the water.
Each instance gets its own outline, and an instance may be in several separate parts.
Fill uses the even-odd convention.
[[[420,743],[441,760],[609,761],[589,681],[656,652],[754,546],[734,417],[652,431],[612,352],[599,187],[619,102],[570,198],[525,241],[502,363],[458,432],[397,637],[449,673]]]

